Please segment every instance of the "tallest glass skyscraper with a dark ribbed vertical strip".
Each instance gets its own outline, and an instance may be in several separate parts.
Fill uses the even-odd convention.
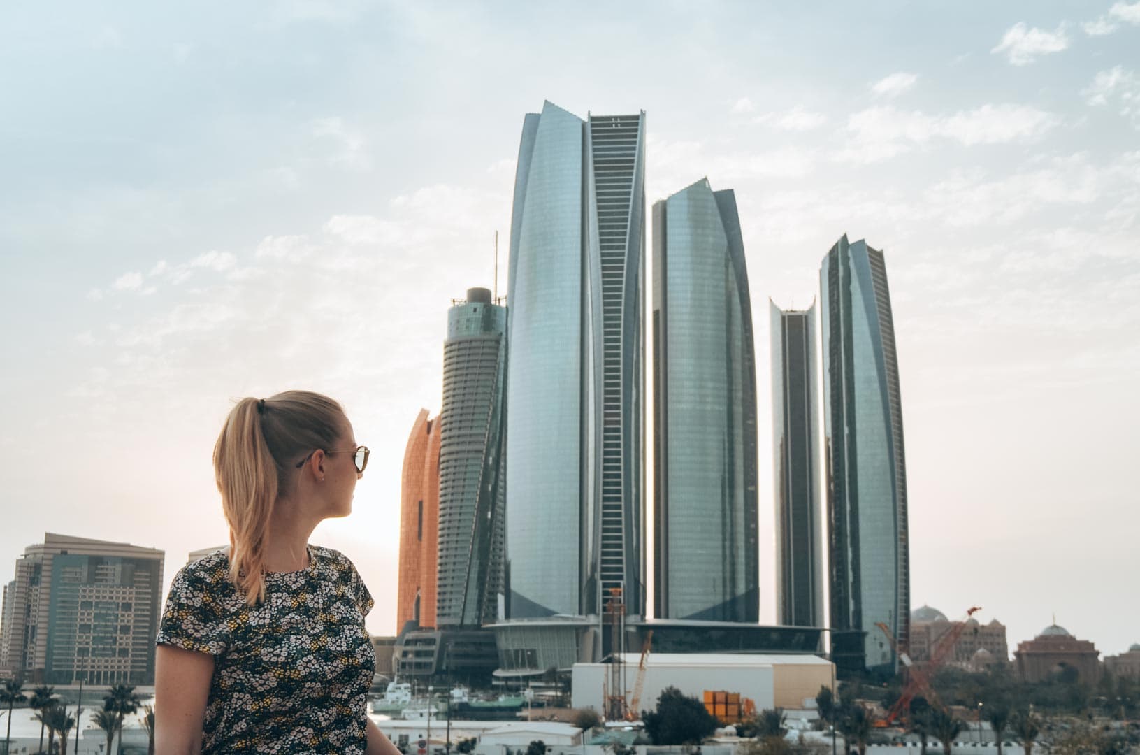
[[[644,612],[645,115],[523,120],[507,342],[510,618]]]

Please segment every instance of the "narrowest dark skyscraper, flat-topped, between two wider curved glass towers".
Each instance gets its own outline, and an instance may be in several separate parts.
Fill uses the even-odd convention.
[[[771,315],[776,623],[824,626],[815,303]]]

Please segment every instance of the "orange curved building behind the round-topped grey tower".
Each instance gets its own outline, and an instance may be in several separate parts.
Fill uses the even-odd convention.
[[[396,630],[408,622],[435,626],[435,575],[439,558],[439,417],[420,409],[400,476],[400,575]]]

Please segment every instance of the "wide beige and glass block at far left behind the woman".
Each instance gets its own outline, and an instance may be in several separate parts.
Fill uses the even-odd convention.
[[[153,684],[164,558],[47,533],[5,590],[3,672],[32,684]]]

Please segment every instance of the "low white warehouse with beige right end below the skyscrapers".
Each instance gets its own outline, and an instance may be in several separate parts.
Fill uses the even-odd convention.
[[[622,653],[627,699],[633,695],[641,656]],[[575,664],[571,705],[604,711],[605,685],[610,664]],[[661,692],[676,687],[683,693],[705,699],[706,691],[739,692],[767,708],[801,708],[821,687],[831,687],[834,667],[830,660],[812,655],[750,653],[659,653],[645,657],[645,680],[638,712],[652,711]],[[630,704],[633,701],[630,700]]]

